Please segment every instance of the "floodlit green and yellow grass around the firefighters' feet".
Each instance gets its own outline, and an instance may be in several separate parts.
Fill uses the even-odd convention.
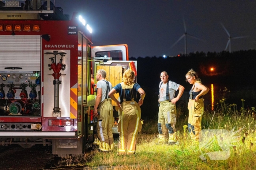
[[[222,100],[225,102],[225,100]],[[244,102],[244,101],[242,101]],[[225,103],[224,103],[225,104]],[[142,132],[138,135],[135,155],[117,155],[117,143],[114,142],[114,151],[102,153],[98,150],[84,153],[77,157],[65,158],[66,166],[82,165],[84,169],[106,170],[253,170],[256,169],[256,123],[255,109],[234,109],[229,104],[219,105],[215,111],[206,111],[203,115],[202,129],[239,130],[237,142],[230,146],[230,157],[226,160],[206,161],[199,158],[202,152],[199,144],[193,142],[187,131],[187,119],[178,120],[178,145],[156,145],[158,141],[157,120],[145,122]],[[230,109],[229,109],[230,108]],[[182,115],[182,113],[178,113]],[[222,151],[216,147],[205,150]]]

